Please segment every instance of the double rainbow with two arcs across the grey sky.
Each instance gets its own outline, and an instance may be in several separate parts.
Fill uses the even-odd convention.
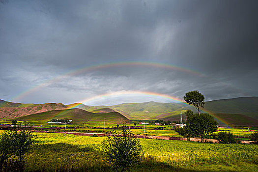
[[[57,77],[49,79],[49,80],[47,80],[47,81],[45,81],[45,82],[43,82],[43,83],[41,83],[37,86],[33,86],[33,87],[21,92],[17,96],[13,97],[11,100],[12,101],[18,101],[18,100],[22,99],[23,97],[26,97],[29,94],[31,94],[35,91],[38,91],[45,86],[49,86],[52,83],[58,82],[58,81],[66,78],[66,77],[75,76],[75,75],[78,75],[78,74],[81,74],[81,73],[94,71],[94,70],[98,70],[98,69],[105,69],[105,68],[112,68],[112,67],[122,67],[122,66],[140,66],[140,67],[143,66],[143,67],[165,68],[165,69],[168,69],[168,70],[175,70],[175,71],[188,73],[188,74],[191,74],[191,75],[196,75],[198,77],[205,76],[205,75],[203,75],[203,74],[201,74],[197,71],[187,69],[187,68],[184,68],[184,67],[171,65],[171,64],[166,64],[166,63],[148,62],[148,61],[122,61],[122,62],[103,63],[103,64],[98,64],[98,65],[86,66],[86,67],[83,67],[83,68],[79,68],[79,69],[72,70],[72,71],[69,71],[67,73],[58,75]],[[187,104],[183,100],[178,99],[176,97],[172,97],[172,96],[167,95],[167,94],[160,94],[160,93],[156,93],[156,92],[147,92],[147,91],[117,91],[117,92],[106,93],[106,94],[101,94],[101,95],[97,95],[97,96],[94,96],[94,97],[86,98],[86,99],[84,99],[80,102],[87,103],[89,101],[97,100],[99,98],[112,97],[112,96],[117,96],[117,95],[151,95],[151,96],[163,97],[163,98],[166,98],[166,99],[169,99],[169,100],[172,100],[172,101]],[[79,105],[80,104],[77,104],[75,106],[70,107],[69,109],[76,108]],[[212,114],[211,112],[205,111],[205,113],[213,115],[216,119],[220,120],[221,122],[223,122],[224,124],[229,126],[229,124],[227,124],[227,122],[225,120],[223,120],[222,118]]]

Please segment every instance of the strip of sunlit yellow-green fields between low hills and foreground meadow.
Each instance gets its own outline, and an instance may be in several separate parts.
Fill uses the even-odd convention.
[[[125,124],[117,124],[117,123],[105,123],[105,129],[104,129],[104,121],[101,123],[79,123],[79,124],[47,124],[47,123],[41,123],[38,124],[38,121],[31,121],[31,122],[26,122],[26,125],[28,126],[33,126],[36,129],[39,130],[48,130],[48,131],[67,131],[67,132],[87,132],[87,133],[111,133],[115,128],[117,130],[117,125],[121,127],[122,125]],[[0,123],[8,123],[11,125],[10,120],[0,120]],[[135,135],[149,135],[149,136],[170,136],[170,137],[182,137],[178,135],[177,132],[174,131],[174,126],[169,126],[169,125],[154,125],[154,124],[149,124],[145,125],[145,132],[144,132],[144,124],[139,124],[137,123],[136,126],[134,125],[136,121],[133,121],[132,123],[127,123],[126,126],[134,127],[136,129],[132,129],[131,131]],[[22,124],[22,121],[17,121],[17,124]],[[23,121],[23,125],[25,122]],[[34,124],[34,125],[33,125]],[[95,128],[95,129],[94,129]],[[109,128],[109,129],[108,129]],[[254,130],[258,132],[258,128],[249,128],[250,130]],[[240,139],[240,140],[249,140],[249,136],[253,132],[248,132],[248,128],[218,128],[216,134],[218,132],[230,132],[234,134],[237,137],[244,137],[245,139]]]

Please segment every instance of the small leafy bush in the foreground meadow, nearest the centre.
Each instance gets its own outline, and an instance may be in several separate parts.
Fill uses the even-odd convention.
[[[140,141],[126,127],[121,133],[109,136],[102,147],[107,160],[122,172],[140,162],[144,154]]]

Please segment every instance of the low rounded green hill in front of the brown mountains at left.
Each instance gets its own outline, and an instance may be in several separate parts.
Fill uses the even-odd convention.
[[[72,119],[72,123],[100,123],[106,117],[107,123],[124,123],[130,120],[117,112],[94,114],[82,109],[67,109],[67,110],[54,110],[32,115],[26,115],[15,118],[18,121],[28,121],[34,124],[41,124],[50,121],[51,119],[63,119],[67,117]]]

